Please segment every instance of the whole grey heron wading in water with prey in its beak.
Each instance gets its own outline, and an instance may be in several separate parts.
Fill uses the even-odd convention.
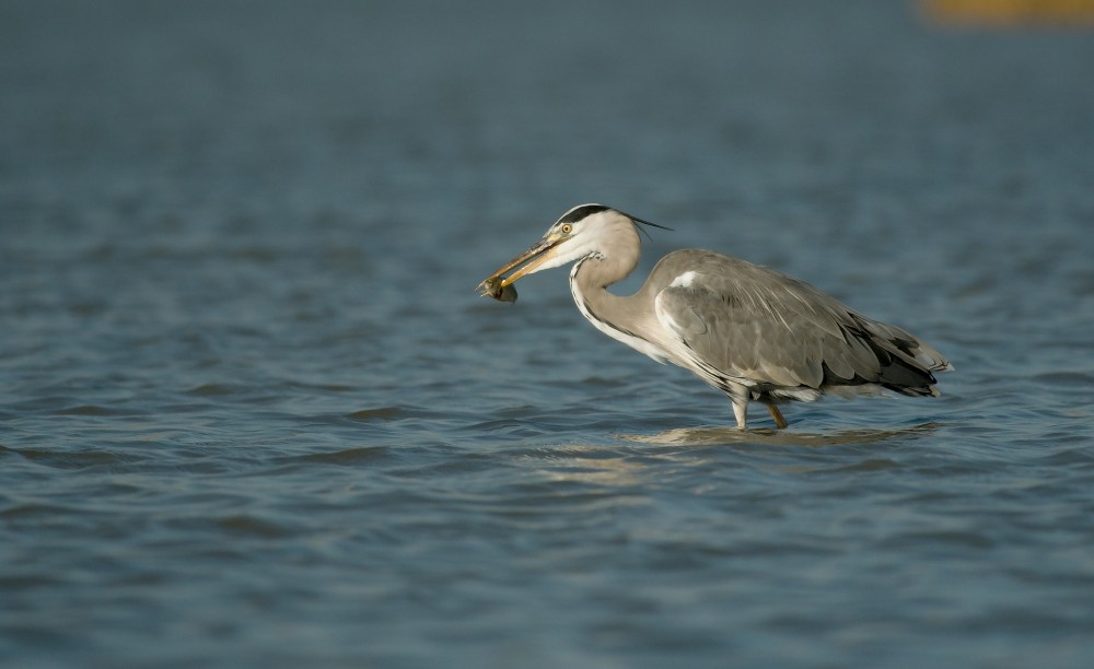
[[[573,262],[570,292],[581,315],[608,337],[724,392],[740,429],[750,401],[764,403],[784,429],[778,408],[784,401],[887,390],[938,397],[933,372],[953,369],[900,328],[804,281],[711,250],[673,251],[637,293],[615,295],[607,287],[638,265],[640,224],[664,227],[603,204],[574,207],[479,287],[511,302],[522,277]]]

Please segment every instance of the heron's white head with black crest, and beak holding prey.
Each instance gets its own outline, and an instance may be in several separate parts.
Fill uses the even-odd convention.
[[[500,286],[504,287],[540,270],[561,267],[590,255],[607,255],[613,247],[621,244],[621,239],[629,239],[631,236],[632,245],[637,248],[639,239],[636,223],[662,227],[604,204],[579,204],[562,214],[538,242],[503,265],[479,286],[500,279]],[[510,270],[515,271],[503,277]]]

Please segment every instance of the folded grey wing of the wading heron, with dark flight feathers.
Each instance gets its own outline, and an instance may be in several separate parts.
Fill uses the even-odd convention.
[[[664,277],[655,297],[657,319],[695,364],[723,377],[782,387],[923,386],[933,383],[926,369],[943,368],[932,361],[948,364],[904,330],[859,316],[803,281],[713,251],[673,256],[654,270],[675,274]],[[900,368],[883,378],[894,361]]]

